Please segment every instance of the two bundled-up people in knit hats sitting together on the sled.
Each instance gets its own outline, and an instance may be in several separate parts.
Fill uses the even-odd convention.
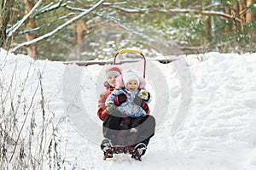
[[[109,68],[106,77],[107,90],[100,95],[97,112],[106,138],[101,144],[103,153],[119,145],[132,146],[143,156],[155,127],[154,116],[149,116],[151,96],[145,89],[145,80],[133,71],[122,75],[117,67]],[[125,147],[119,151],[125,151]],[[107,157],[112,158],[113,152],[108,150]],[[140,159],[136,154],[131,157]]]

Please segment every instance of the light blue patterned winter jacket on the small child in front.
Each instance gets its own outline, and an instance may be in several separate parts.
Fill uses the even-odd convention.
[[[131,117],[138,117],[138,116],[146,116],[146,112],[143,110],[143,108],[140,105],[137,105],[133,102],[135,99],[135,96],[139,93],[140,90],[136,90],[135,92],[130,92],[126,90],[125,88],[116,88],[113,90],[113,92],[108,96],[108,99],[106,100],[105,105],[113,104],[114,105],[114,99],[119,94],[126,94],[126,101],[119,105],[117,107],[117,110],[119,110],[123,115],[125,116],[131,116]]]

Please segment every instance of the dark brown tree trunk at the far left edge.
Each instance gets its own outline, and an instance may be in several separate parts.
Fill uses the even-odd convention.
[[[9,24],[9,21],[11,20],[11,11],[13,8],[13,5],[15,3],[15,0],[3,0],[1,1],[1,16],[0,16],[0,47],[1,48],[9,48],[9,43],[7,40],[6,35],[6,29]]]

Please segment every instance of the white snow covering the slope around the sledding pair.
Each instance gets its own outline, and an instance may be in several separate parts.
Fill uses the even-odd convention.
[[[157,128],[143,161],[127,155],[103,161],[99,147],[102,122],[96,116],[96,107],[104,90],[107,65],[63,65],[7,53],[2,48],[0,61],[2,89],[7,89],[11,80],[13,94],[19,94],[24,86],[22,105],[28,105],[35,93],[35,113],[40,112],[40,90],[36,87],[38,72],[42,73],[50,120],[45,145],[52,138],[51,127],[58,127],[55,138],[59,141],[61,169],[256,169],[256,54],[212,52],[187,55],[169,64],[148,61],[146,87],[154,96],[149,106]],[[138,68],[134,64],[122,68],[129,66]],[[2,98],[4,92],[0,92]],[[22,109],[17,117],[20,126],[25,120]],[[37,136],[43,118],[42,114],[35,117]],[[28,121],[25,124],[30,126]],[[27,138],[23,130],[20,139]],[[32,145],[37,145],[36,141]],[[44,155],[44,169],[49,169],[49,157]],[[12,164],[8,166],[12,169]]]

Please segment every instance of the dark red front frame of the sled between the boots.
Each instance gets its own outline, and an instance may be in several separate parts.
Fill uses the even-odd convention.
[[[110,147],[105,155],[104,155],[104,160],[107,159],[108,153],[112,151],[113,154],[130,154],[130,155],[136,155],[137,160],[142,161],[140,154],[138,153],[137,149],[135,149],[132,146],[112,146]]]

